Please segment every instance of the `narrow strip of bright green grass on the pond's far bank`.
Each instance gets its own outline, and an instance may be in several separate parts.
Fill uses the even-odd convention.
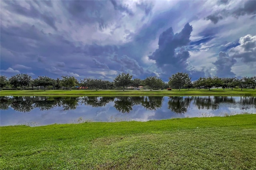
[[[4,90],[0,95],[233,95],[233,96],[256,96],[256,90],[253,89],[181,89],[176,90]]]

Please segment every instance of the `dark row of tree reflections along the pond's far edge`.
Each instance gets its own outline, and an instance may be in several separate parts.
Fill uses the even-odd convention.
[[[134,105],[141,105],[148,110],[157,110],[162,107],[164,97],[0,97],[0,109],[12,108],[20,112],[29,112],[34,108],[48,110],[54,107],[62,107],[64,110],[76,109],[78,103],[92,107],[104,107],[114,101],[114,108],[122,113],[129,113]],[[256,108],[255,97],[169,97],[168,109],[174,113],[186,113],[190,103],[198,109],[219,109],[220,105],[247,110]]]

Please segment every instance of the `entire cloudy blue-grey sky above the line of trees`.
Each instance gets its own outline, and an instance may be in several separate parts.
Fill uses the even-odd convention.
[[[256,75],[256,1],[0,1],[0,74]]]

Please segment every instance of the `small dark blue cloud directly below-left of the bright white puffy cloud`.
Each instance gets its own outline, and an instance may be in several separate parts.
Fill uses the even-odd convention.
[[[235,74],[231,71],[231,67],[234,65],[234,63],[236,63],[234,58],[221,51],[218,55],[217,61],[213,63],[217,68],[217,76],[235,77]]]

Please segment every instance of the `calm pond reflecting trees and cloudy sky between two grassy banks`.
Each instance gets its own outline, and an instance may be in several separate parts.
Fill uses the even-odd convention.
[[[256,113],[256,97],[0,97],[0,124],[40,126]]]

